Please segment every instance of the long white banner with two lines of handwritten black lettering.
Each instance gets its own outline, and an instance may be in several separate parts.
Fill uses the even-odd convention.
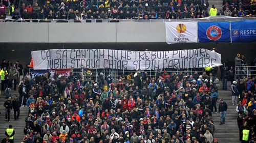
[[[32,51],[34,69],[157,70],[204,68],[221,64],[221,54],[207,49],[129,51],[112,49],[51,49]]]

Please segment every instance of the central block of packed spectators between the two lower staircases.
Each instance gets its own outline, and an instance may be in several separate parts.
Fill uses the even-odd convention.
[[[20,86],[27,89],[30,84],[32,89],[27,90],[36,93],[24,95],[30,96],[23,104],[30,107],[24,130],[28,138],[39,132],[44,140],[53,142],[57,138],[89,142],[214,140],[211,110],[217,112],[212,99],[217,101],[218,85],[212,74],[186,76],[159,71],[150,78],[137,71],[126,79],[121,77],[117,84],[110,82],[108,90],[101,90],[103,73],[97,81],[90,76],[83,81],[82,75],[74,77],[73,73],[67,78],[58,73],[53,77],[38,75],[33,83],[25,77]],[[111,76],[107,80],[112,80]]]

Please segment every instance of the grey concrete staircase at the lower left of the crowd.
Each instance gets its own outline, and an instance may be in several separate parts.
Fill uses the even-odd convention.
[[[9,125],[12,125],[12,127],[15,130],[15,135],[14,135],[14,142],[15,143],[19,143],[22,142],[23,137],[24,137],[24,128],[25,128],[25,119],[28,116],[28,107],[20,107],[20,115],[19,115],[19,120],[15,121],[14,120],[14,112],[11,111],[11,118],[10,118],[10,123],[5,121],[5,107],[4,107],[4,102],[7,100],[5,99],[5,94],[3,91],[1,91],[2,94],[0,95],[0,141],[2,141],[2,139],[4,139],[5,136],[5,131],[6,128],[9,127]],[[18,95],[17,91],[12,91],[12,98],[14,98],[14,96]]]

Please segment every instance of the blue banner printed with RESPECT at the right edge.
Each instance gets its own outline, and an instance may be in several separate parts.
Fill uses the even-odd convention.
[[[232,21],[232,42],[254,42],[256,41],[256,21]]]

